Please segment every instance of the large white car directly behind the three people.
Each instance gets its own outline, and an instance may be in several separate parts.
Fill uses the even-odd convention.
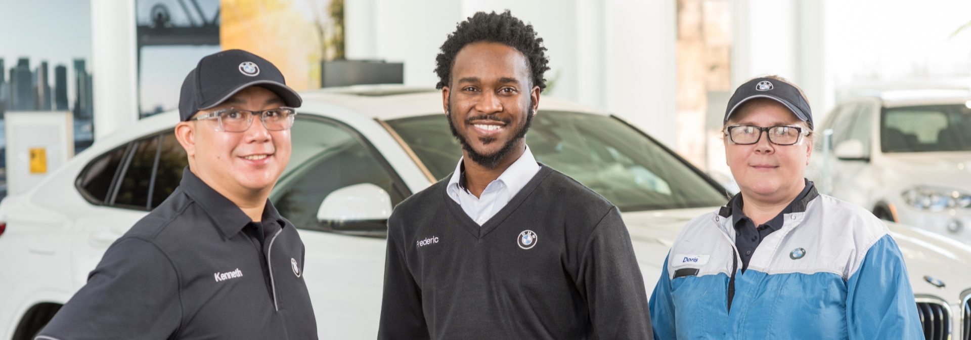
[[[321,339],[377,335],[390,207],[446,177],[461,154],[435,90],[351,87],[303,94],[292,156],[271,194],[307,249]],[[538,161],[619,206],[647,290],[686,221],[723,188],[621,119],[544,98],[526,137]],[[185,155],[166,113],[97,141],[38,187],[0,203],[0,338],[28,339],[80,289],[106,248],[179,184]],[[969,329],[968,248],[890,224],[928,338]],[[963,301],[962,301],[963,299]],[[963,303],[963,305],[962,305]],[[964,318],[964,320],[969,320]],[[968,330],[961,330],[968,331]]]

